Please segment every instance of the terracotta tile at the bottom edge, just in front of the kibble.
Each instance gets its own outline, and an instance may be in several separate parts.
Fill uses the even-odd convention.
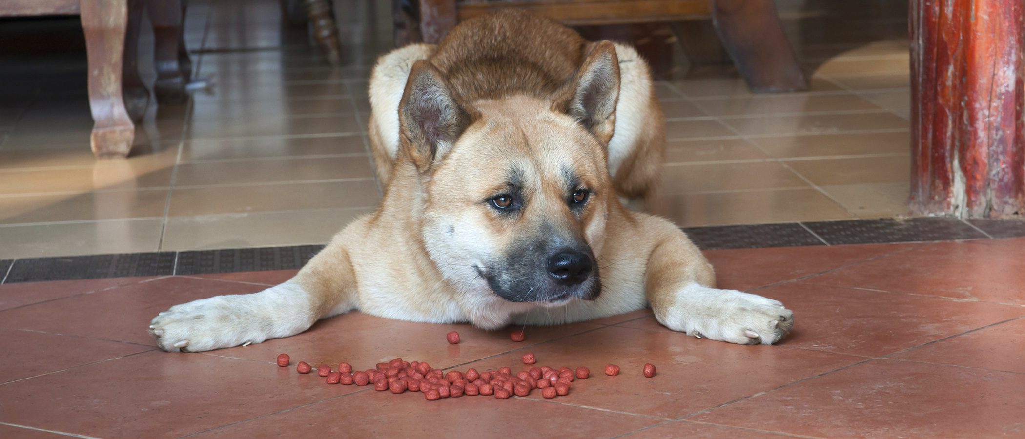
[[[386,407],[382,409],[382,407]],[[331,413],[325,422],[325,413]],[[613,437],[659,420],[522,398],[462,396],[426,401],[421,393],[364,391],[199,437],[282,437],[318,426],[326,437]],[[430,432],[430,433],[426,433]]]

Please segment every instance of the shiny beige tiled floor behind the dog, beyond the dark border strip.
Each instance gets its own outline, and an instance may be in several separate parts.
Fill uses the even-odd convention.
[[[341,37],[357,44],[330,69],[303,30],[281,25],[277,1],[193,1],[187,42],[213,86],[189,105],[151,107],[125,161],[88,150],[77,21],[0,21],[0,39],[52,41],[0,49],[0,64],[14,65],[0,71],[0,259],[319,244],[368,212],[381,190],[366,78],[389,45],[372,25],[387,11],[354,4]],[[668,143],[651,209],[682,226],[905,214],[905,12],[779,7],[811,91],[751,94],[729,69],[684,75],[686,60],[653,59],[665,67],[656,87]]]

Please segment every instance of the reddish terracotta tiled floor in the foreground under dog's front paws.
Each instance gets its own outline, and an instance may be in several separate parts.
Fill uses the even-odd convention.
[[[351,313],[288,339],[200,354],[156,350],[170,305],[262,290],[291,271],[0,286],[0,436],[1020,437],[1025,238],[710,251],[724,288],[783,301],[795,328],[736,346],[649,311],[551,327],[422,324]],[[461,343],[445,334],[458,331]],[[437,402],[328,386],[274,364],[395,356],[436,367],[585,365],[554,400]],[[652,362],[658,375],[645,379]],[[605,364],[622,367],[615,378]]]

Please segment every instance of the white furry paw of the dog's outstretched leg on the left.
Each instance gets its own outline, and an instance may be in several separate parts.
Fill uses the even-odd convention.
[[[172,306],[150,322],[157,345],[168,352],[201,352],[264,339],[241,315],[240,296],[217,296]],[[249,339],[249,340],[247,340]]]

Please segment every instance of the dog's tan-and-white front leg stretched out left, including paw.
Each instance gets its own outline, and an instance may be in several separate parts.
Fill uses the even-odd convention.
[[[150,332],[165,351],[208,351],[306,331],[356,307],[348,254],[332,242],[290,280],[259,293],[216,296],[161,312]]]

